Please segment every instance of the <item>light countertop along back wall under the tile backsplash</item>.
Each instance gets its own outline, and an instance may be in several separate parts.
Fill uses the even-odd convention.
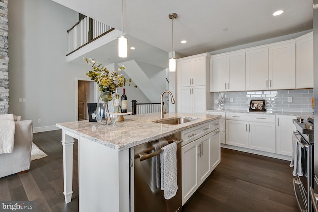
[[[223,112],[223,113],[247,113],[247,114],[265,114],[265,115],[282,115],[282,116],[301,116],[303,118],[312,117],[313,113],[309,112],[291,112],[291,111],[266,111],[266,112],[249,112],[248,110],[207,110],[208,112]]]

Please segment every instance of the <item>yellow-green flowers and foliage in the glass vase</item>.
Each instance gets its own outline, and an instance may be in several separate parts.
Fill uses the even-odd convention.
[[[118,71],[114,70],[110,72],[102,64],[99,64],[91,58],[84,58],[84,61],[92,67],[92,71],[89,71],[86,75],[98,84],[100,92],[108,92],[108,101],[112,100],[111,94],[114,94],[117,88],[126,85],[126,78],[122,74],[118,73],[119,71],[126,69],[124,65],[119,67]],[[138,86],[133,84],[131,79],[129,79],[128,82],[129,86],[133,85],[138,89]]]

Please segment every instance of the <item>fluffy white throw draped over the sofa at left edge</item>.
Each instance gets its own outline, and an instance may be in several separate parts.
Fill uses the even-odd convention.
[[[0,115],[0,154],[13,152],[15,123],[13,114]]]

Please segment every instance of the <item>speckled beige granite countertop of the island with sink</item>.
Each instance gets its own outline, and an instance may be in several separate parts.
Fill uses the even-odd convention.
[[[159,113],[153,113],[125,116],[124,122],[116,122],[111,125],[101,125],[97,122],[85,120],[58,123],[56,126],[109,148],[122,151],[221,117],[206,114],[164,114],[164,118],[175,116],[195,117],[198,119],[178,125],[160,124],[152,122],[159,120]]]

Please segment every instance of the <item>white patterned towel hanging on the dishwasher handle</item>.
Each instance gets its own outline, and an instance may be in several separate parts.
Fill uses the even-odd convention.
[[[178,190],[177,183],[177,144],[172,142],[162,147],[161,160],[161,190],[164,190],[166,200],[174,197]]]

